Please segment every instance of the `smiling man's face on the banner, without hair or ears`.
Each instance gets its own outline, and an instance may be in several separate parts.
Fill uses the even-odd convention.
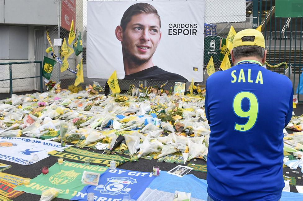
[[[161,32],[159,18],[155,14],[133,15],[123,32],[122,47],[135,63],[145,63],[152,58]]]

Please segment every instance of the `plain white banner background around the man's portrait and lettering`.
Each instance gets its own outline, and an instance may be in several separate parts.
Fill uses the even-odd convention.
[[[116,70],[118,79],[124,78],[115,28],[124,11],[138,2],[151,4],[161,17],[162,37],[153,63],[188,81],[203,81],[204,1],[88,1],[87,76],[109,78]],[[197,24],[197,36],[168,35],[169,24]]]

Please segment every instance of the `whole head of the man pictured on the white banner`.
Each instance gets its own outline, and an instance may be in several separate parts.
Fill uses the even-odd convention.
[[[136,64],[148,62],[160,43],[160,28],[161,19],[155,7],[148,3],[130,6],[115,30],[122,44],[124,59]]]

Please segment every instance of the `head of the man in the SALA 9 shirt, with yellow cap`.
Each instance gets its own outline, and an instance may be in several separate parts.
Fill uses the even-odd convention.
[[[233,49],[231,50],[233,63],[244,59],[265,63],[266,52],[264,36],[256,29],[248,28],[239,31],[233,39]]]

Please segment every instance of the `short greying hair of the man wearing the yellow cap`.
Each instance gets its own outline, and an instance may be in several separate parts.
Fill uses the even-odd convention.
[[[254,36],[243,36],[242,41],[255,41]],[[250,46],[250,45],[244,45],[244,46],[238,46],[233,48],[233,56],[236,60],[240,59],[241,57],[247,57],[247,56],[256,56],[260,59],[264,58],[264,52],[265,49],[260,46]]]

